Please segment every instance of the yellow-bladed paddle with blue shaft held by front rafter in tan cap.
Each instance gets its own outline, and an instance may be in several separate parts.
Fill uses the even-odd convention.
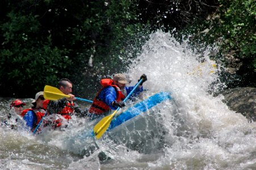
[[[133,90],[129,93],[127,97],[125,97],[124,102],[132,95],[132,93],[136,90],[136,88],[139,86],[139,84],[142,82],[143,79],[140,79],[140,81],[136,84],[136,86],[133,88]],[[107,130],[108,126],[110,126],[110,122],[112,118],[115,116],[115,114],[119,111],[120,107],[116,109],[116,111],[100,120],[98,124],[94,126],[94,135],[96,139],[99,139]]]

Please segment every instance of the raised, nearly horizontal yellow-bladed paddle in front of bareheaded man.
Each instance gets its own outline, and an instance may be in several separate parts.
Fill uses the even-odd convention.
[[[63,97],[70,97],[69,95],[65,95],[56,87],[48,86],[46,85],[44,87],[44,99],[49,99],[49,100],[58,100],[62,99]],[[79,97],[75,97],[75,99],[82,100],[82,101],[87,101],[89,103],[93,103],[91,100],[87,99],[82,99]]]

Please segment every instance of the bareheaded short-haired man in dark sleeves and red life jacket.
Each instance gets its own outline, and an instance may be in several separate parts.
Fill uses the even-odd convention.
[[[69,98],[62,98],[59,100],[45,100],[44,108],[49,114],[60,114],[66,120],[70,120],[71,116],[75,114],[78,117],[85,117],[86,111],[83,111],[78,104],[74,103],[75,96],[72,94],[73,83],[69,79],[61,79],[58,82],[58,89]],[[62,119],[53,122],[55,128],[62,125]]]

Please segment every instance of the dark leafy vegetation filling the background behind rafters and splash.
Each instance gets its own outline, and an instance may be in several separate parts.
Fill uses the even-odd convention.
[[[2,0],[0,96],[33,97],[69,78],[89,97],[97,75],[125,71],[149,33],[174,28],[195,52],[219,47],[212,59],[228,88],[255,86],[255,9],[254,0]]]

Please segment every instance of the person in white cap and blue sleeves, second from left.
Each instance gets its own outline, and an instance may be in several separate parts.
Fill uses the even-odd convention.
[[[33,131],[44,116],[45,109],[43,108],[44,92],[40,91],[36,93],[35,100],[32,101],[32,107],[30,109],[24,109],[22,116],[28,130]]]

